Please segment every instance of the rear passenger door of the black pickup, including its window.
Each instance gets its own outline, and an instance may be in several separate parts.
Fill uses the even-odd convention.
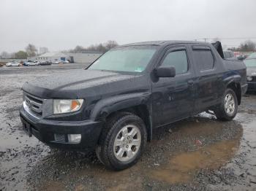
[[[192,60],[197,76],[195,80],[197,89],[195,113],[197,113],[218,103],[222,91],[222,75],[210,46],[192,45]]]

